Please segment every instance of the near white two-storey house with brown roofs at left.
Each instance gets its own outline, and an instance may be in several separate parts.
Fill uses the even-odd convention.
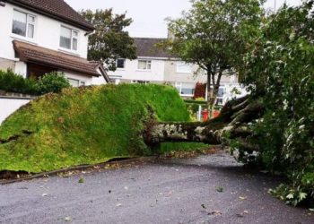
[[[107,83],[102,65],[87,61],[93,30],[63,0],[0,1],[0,69],[25,78],[60,71],[73,86]]]

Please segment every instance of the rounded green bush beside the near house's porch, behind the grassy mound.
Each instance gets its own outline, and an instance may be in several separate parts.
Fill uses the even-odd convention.
[[[64,73],[52,72],[40,77],[36,82],[36,88],[39,94],[48,92],[60,92],[64,88],[70,87],[69,81]]]

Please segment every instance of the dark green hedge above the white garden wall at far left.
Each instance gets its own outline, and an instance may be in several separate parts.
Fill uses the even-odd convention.
[[[24,79],[12,70],[6,72],[0,70],[0,90],[31,95],[38,93],[34,80]]]

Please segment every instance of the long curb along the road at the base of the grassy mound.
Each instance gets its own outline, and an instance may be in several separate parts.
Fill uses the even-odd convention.
[[[158,156],[153,156],[153,157],[142,157],[142,158],[135,158],[135,159],[118,159],[114,161],[108,161],[108,162],[102,162],[94,165],[82,165],[82,166],[76,166],[73,168],[63,168],[63,169],[58,169],[55,171],[50,171],[50,172],[43,172],[39,174],[35,174],[30,177],[22,177],[22,178],[15,178],[15,179],[8,179],[8,180],[0,180],[0,185],[9,185],[13,183],[18,183],[26,180],[33,180],[33,179],[39,179],[42,177],[56,177],[58,174],[61,173],[66,173],[70,171],[83,171],[89,168],[95,169],[97,168],[106,168],[108,166],[112,165],[128,165],[128,164],[133,164],[133,163],[145,163],[145,162],[153,162],[158,159]]]

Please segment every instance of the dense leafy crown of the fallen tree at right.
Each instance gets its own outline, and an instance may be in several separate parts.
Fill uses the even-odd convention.
[[[250,140],[260,146],[257,162],[288,177],[275,191],[296,205],[314,199],[314,19],[313,1],[283,6],[270,15],[246,57],[243,82],[262,100],[265,115]]]

